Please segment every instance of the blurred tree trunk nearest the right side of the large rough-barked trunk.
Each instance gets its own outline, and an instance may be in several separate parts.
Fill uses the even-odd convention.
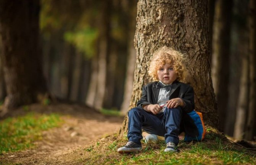
[[[222,127],[228,103],[231,11],[232,0],[216,0],[212,38],[212,83]]]

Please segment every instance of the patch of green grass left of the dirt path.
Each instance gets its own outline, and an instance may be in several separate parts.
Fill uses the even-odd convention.
[[[62,120],[57,114],[42,115],[34,113],[1,121],[0,154],[33,146],[34,141],[42,139],[42,131],[58,127],[61,123]]]

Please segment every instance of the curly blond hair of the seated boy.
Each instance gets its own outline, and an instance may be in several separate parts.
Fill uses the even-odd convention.
[[[157,70],[165,64],[170,64],[173,66],[173,70],[175,70],[177,74],[178,81],[184,81],[187,75],[187,70],[185,69],[185,56],[180,52],[173,50],[172,48],[168,48],[166,46],[158,49],[153,54],[153,59],[149,66],[149,75],[155,81],[159,81],[157,76]]]

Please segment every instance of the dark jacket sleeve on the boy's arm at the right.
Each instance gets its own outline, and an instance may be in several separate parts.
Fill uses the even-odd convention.
[[[185,91],[184,95],[181,97],[185,103],[185,107],[182,109],[189,113],[194,110],[194,90],[192,87],[188,86],[187,90]]]

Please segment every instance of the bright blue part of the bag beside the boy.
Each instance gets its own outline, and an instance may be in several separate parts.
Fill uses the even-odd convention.
[[[185,135],[184,141],[192,141],[192,140],[200,141],[200,140],[202,140],[204,128],[203,128],[203,124],[202,124],[200,116],[194,110],[192,112],[188,113],[188,115],[190,115],[190,117],[194,120],[194,123],[195,123],[196,127],[198,128],[199,135],[196,138],[192,138],[191,136]]]

